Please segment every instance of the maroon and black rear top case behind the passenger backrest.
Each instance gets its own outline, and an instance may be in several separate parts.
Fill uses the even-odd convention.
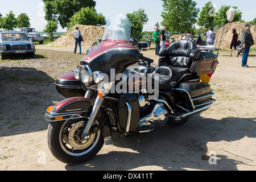
[[[190,71],[197,76],[214,73],[217,64],[217,56],[214,53],[202,51],[199,59],[192,61]]]

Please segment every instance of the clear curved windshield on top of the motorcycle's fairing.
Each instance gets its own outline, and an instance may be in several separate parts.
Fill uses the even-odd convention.
[[[131,21],[126,15],[115,14],[108,18],[102,40],[130,40]]]

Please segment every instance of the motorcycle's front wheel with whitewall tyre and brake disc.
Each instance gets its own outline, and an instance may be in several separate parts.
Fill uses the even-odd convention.
[[[104,139],[100,130],[81,138],[85,123],[76,119],[49,123],[48,146],[55,158],[68,164],[81,163],[101,150]]]

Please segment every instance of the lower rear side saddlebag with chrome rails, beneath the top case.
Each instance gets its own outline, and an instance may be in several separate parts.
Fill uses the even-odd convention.
[[[181,82],[174,90],[180,98],[179,107],[186,111],[192,111],[216,101],[212,98],[213,90],[205,82]]]

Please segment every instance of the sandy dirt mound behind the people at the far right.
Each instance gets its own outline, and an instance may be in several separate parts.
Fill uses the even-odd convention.
[[[222,34],[224,26],[221,27],[219,30],[217,30],[215,32],[214,46],[216,46],[218,48],[218,45],[220,44],[220,39],[221,39],[220,48],[221,49],[229,49],[229,44],[231,42],[231,35],[232,35],[233,28],[236,28],[236,30],[237,30],[238,39],[242,40],[242,31],[245,29],[245,24],[246,23],[241,23],[241,22],[227,23],[225,25],[222,39],[221,39],[221,34]],[[253,35],[253,39],[255,41],[256,40],[256,26],[252,26],[250,31],[251,31],[251,35]],[[255,47],[255,44],[253,47]]]

